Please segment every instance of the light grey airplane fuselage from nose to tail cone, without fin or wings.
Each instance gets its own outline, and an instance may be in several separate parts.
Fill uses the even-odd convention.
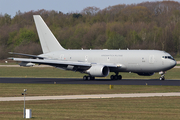
[[[54,60],[119,66],[110,68],[110,72],[160,72],[176,65],[169,53],[159,50],[63,50],[40,56]]]

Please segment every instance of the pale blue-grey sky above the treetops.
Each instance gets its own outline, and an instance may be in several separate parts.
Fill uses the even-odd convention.
[[[14,17],[16,12],[31,10],[55,10],[63,13],[81,12],[84,8],[95,6],[104,9],[118,4],[133,4],[157,0],[0,0],[0,14],[5,13]],[[162,1],[162,0],[158,0]]]

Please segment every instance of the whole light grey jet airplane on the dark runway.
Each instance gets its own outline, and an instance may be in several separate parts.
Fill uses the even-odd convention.
[[[159,50],[67,50],[64,49],[40,15],[34,15],[36,29],[39,35],[43,54],[29,55],[31,58],[11,58],[21,61],[21,66],[33,66],[36,64],[50,65],[56,68],[78,71],[88,74],[84,80],[95,77],[106,77],[110,72],[111,80],[121,80],[119,72],[133,72],[142,76],[151,76],[155,72],[161,74],[160,80],[165,80],[165,71],[173,68],[176,61],[164,51]]]

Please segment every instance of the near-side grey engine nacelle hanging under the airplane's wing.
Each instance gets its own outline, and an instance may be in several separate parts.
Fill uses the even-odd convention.
[[[103,65],[93,65],[86,73],[93,77],[106,77],[109,75],[109,68]]]

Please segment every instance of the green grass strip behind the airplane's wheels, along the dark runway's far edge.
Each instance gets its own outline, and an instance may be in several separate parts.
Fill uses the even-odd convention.
[[[166,73],[166,79],[180,79],[180,69],[171,69]],[[110,79],[110,73],[105,79]],[[155,73],[153,76],[139,76],[135,73],[119,73],[123,79],[158,79],[160,75]],[[53,67],[0,67],[0,77],[43,77],[43,78],[82,78],[85,74],[79,72],[65,71]]]

